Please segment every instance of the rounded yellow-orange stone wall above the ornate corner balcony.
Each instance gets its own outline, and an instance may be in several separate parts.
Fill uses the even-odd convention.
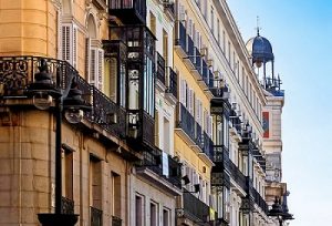
[[[56,56],[56,12],[46,0],[0,1],[0,54]]]

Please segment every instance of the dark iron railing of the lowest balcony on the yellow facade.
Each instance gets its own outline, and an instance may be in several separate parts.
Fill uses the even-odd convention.
[[[209,206],[185,188],[183,194],[183,209],[185,215],[191,217],[194,220],[198,219],[201,223],[208,223],[209,220]]]

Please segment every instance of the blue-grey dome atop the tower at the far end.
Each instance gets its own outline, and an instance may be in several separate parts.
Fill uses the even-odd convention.
[[[246,47],[249,54],[252,56],[252,63],[262,63],[274,60],[270,41],[259,35],[259,33],[257,37],[249,39]]]

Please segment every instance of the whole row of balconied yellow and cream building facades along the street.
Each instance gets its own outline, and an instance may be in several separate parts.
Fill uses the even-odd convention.
[[[17,0],[0,16],[0,225],[274,224],[283,92],[226,1]]]

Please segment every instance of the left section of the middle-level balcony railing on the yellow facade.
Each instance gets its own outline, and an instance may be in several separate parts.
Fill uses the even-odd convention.
[[[184,132],[191,138],[191,141],[196,141],[195,137],[195,119],[190,114],[190,112],[181,104],[178,103],[178,127],[183,129]]]

